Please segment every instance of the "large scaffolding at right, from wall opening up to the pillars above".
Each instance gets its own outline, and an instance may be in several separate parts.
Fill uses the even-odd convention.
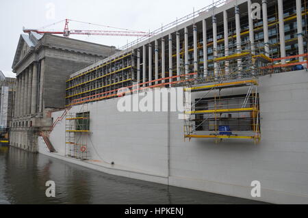
[[[238,53],[237,44],[229,45],[225,55],[226,48],[220,46],[209,74],[185,84],[185,138],[214,138],[216,143],[223,139],[260,141],[257,77],[268,74],[266,67],[272,59],[250,43],[242,43],[241,48]],[[230,88],[238,94],[223,92]]]

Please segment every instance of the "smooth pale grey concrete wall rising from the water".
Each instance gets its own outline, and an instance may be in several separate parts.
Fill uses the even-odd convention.
[[[66,161],[177,187],[277,204],[308,204],[308,73],[302,70],[261,77],[258,90],[260,144],[184,141],[178,113],[120,113],[114,99],[73,107],[70,113],[90,111],[91,159],[105,164],[114,161],[115,165],[94,167],[92,162]],[[54,120],[62,113],[53,113]],[[65,120],[57,124],[50,140],[58,152],[55,157],[65,159]],[[48,154],[42,141],[40,152]],[[254,180],[261,182],[257,199],[251,197]]]

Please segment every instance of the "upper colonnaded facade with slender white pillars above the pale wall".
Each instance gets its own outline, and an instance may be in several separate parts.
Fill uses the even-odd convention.
[[[266,55],[273,65],[281,64],[274,72],[292,70],[283,64],[303,64],[307,59],[303,56],[307,53],[307,5],[307,0],[216,1],[72,74],[66,82],[66,105],[104,100],[133,83],[174,85],[183,74],[197,73],[207,79],[244,74],[244,58],[214,61],[244,52]],[[302,56],[281,59],[294,55]]]

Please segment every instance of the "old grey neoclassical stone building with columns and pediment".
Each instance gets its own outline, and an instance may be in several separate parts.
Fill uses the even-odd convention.
[[[21,34],[12,65],[16,83],[10,145],[36,152],[38,132],[53,123],[49,112],[65,105],[69,75],[114,53],[114,46],[51,34]]]

